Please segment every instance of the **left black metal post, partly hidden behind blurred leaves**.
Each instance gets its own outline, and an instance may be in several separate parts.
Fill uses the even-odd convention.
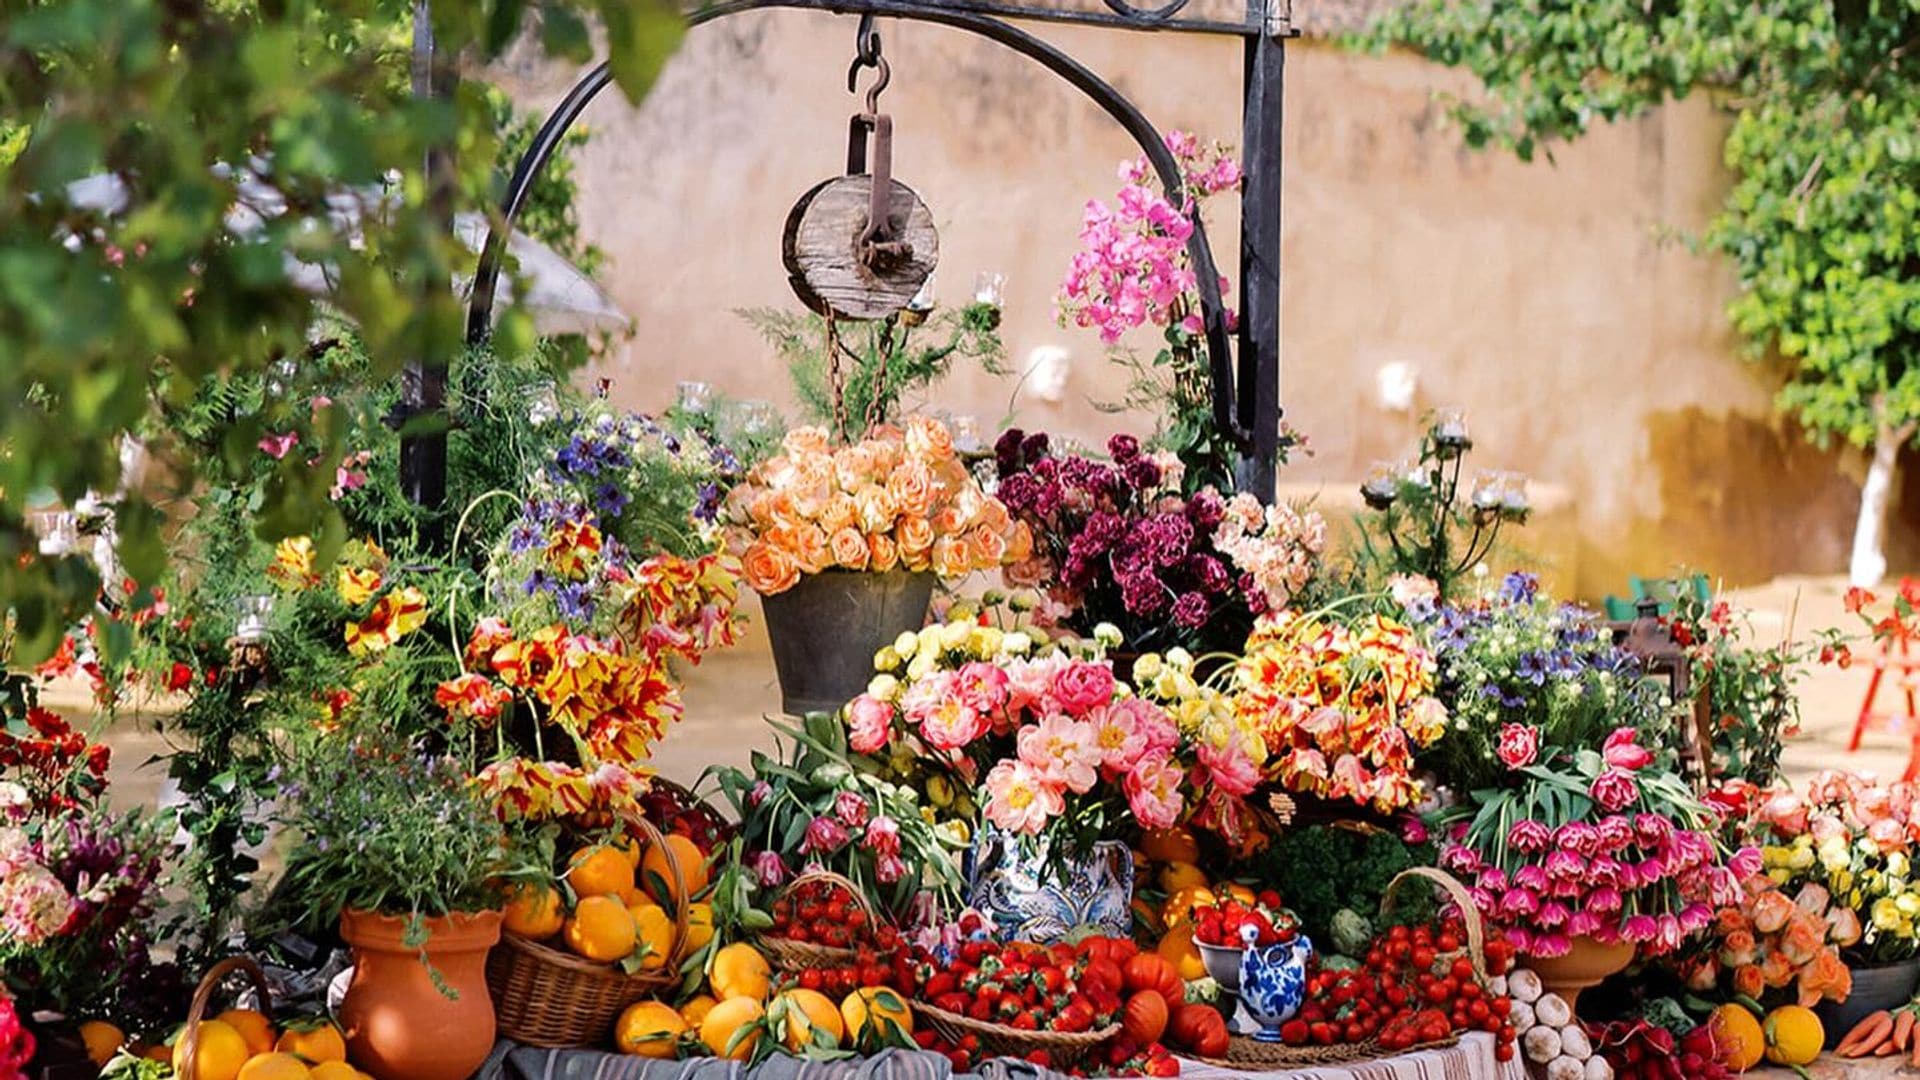
[[[413,2],[413,96],[440,98],[453,92],[453,65],[440,56],[434,46],[434,21],[428,0]],[[447,233],[453,231],[453,165],[447,146],[434,146],[426,154],[426,190],[430,206],[444,217]],[[447,290],[445,281],[420,282],[422,290]],[[434,296],[428,292],[426,296]],[[447,363],[445,357],[419,357],[407,363],[401,373],[399,421],[430,417],[432,429],[422,432],[401,430],[399,436],[399,490],[419,507],[438,515],[447,502]],[[432,523],[428,523],[432,527]]]

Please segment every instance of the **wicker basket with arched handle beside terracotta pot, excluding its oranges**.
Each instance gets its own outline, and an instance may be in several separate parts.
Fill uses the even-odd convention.
[[[660,830],[639,815],[626,817],[628,828],[666,853],[674,892],[685,892],[680,859]],[[687,947],[687,905],[674,909],[674,944],[659,970],[628,974],[618,965],[595,963],[572,953],[501,934],[488,953],[486,984],[493,995],[499,1034],[547,1049],[601,1045],[609,1042],[614,1019],[636,1003],[680,982],[680,963]]]

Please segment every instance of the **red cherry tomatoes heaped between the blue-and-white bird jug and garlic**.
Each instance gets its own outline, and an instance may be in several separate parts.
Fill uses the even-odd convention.
[[[1463,951],[1465,938],[1457,920],[1394,926],[1375,938],[1361,967],[1313,970],[1306,1003],[1281,1026],[1281,1040],[1290,1045],[1379,1040],[1382,1049],[1398,1053],[1480,1030],[1496,1034],[1496,1055],[1511,1061],[1515,1030],[1507,1017],[1513,1001],[1486,990]],[[1488,974],[1505,974],[1511,967],[1513,947],[1503,940],[1488,942]]]

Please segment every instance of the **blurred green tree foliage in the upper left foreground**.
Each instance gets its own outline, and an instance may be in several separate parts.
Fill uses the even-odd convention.
[[[478,61],[536,10],[547,52],[570,60],[589,56],[586,19],[597,17],[630,100],[682,31],[664,0],[436,0],[432,29],[442,56]],[[397,0],[0,0],[0,607],[15,661],[50,651],[98,592],[88,563],[35,555],[33,502],[117,492],[125,432],[179,492],[246,475],[259,442],[309,409],[275,398],[223,413],[209,454],[180,452],[156,423],[307,356],[324,315],[286,254],[328,267],[369,379],[459,354],[447,281],[472,258],[444,215],[490,204],[493,108],[480,86],[407,92],[409,17]],[[453,165],[432,190],[430,148]],[[286,206],[236,234],[227,217],[248,169]],[[96,173],[123,181],[119,213],[69,196]],[[326,213],[346,188],[386,190],[357,233]],[[513,315],[497,336],[503,350],[530,342]],[[263,486],[263,538],[344,536],[326,494],[348,417],[313,427],[319,454],[280,457]],[[127,492],[115,525],[123,569],[159,580],[163,515],[148,492]]]

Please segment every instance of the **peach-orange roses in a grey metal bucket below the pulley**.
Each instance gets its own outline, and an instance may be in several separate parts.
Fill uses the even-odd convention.
[[[787,432],[722,509],[728,548],[766,607],[781,703],[835,713],[874,653],[927,617],[933,580],[1025,559],[1031,536],[981,492],[947,427],[912,417],[852,446]]]

